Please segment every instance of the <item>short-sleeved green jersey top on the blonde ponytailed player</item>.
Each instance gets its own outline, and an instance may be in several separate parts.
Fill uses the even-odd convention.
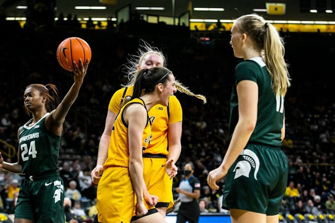
[[[245,60],[236,66],[236,79],[230,99],[229,136],[231,137],[239,120],[237,85],[249,80],[258,85],[257,123],[249,143],[280,147],[281,129],[284,119],[284,97],[275,95],[271,87],[271,77],[262,58]]]

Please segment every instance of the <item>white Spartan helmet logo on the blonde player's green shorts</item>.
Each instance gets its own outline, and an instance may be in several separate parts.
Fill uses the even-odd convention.
[[[251,167],[254,169],[254,178],[257,180],[257,173],[259,170],[259,159],[254,152],[251,150],[243,150],[240,156],[244,160],[239,161],[233,172],[235,172],[234,179],[240,176],[245,176],[249,178]]]

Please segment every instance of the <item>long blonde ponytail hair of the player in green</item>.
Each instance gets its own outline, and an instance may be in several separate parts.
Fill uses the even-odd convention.
[[[251,37],[257,49],[263,50],[266,68],[272,79],[272,89],[276,94],[285,96],[291,84],[288,64],[284,59],[284,41],[277,29],[256,14],[239,17],[235,26],[241,33],[246,33]]]

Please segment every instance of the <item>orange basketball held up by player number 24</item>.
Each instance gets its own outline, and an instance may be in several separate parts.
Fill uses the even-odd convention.
[[[76,61],[79,66],[79,59],[85,62],[88,58],[91,60],[91,48],[88,43],[78,37],[70,37],[63,40],[57,48],[57,60],[61,67],[71,71],[69,68],[74,68],[73,61]]]

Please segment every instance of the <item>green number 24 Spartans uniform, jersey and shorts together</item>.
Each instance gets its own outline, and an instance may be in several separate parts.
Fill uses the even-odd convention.
[[[19,164],[25,179],[20,185],[15,218],[34,222],[65,222],[64,186],[58,174],[60,136],[45,127],[47,113],[37,123],[21,127]]]

